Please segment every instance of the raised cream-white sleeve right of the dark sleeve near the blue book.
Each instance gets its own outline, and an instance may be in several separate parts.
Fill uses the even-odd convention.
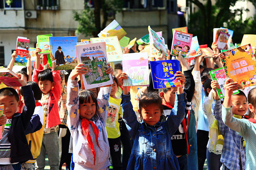
[[[200,71],[193,71],[192,75],[193,75],[194,81],[195,81],[195,92],[194,92],[194,96],[192,98],[192,103],[195,106],[194,107],[195,120],[197,120],[199,105],[200,105],[201,98],[202,98],[202,95],[201,95],[202,81],[201,81]]]

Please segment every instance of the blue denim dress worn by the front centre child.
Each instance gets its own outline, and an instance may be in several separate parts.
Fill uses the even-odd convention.
[[[185,117],[186,93],[175,97],[175,106],[167,120],[148,126],[139,123],[130,95],[122,94],[123,120],[134,140],[127,170],[180,170],[172,150],[171,137]]]

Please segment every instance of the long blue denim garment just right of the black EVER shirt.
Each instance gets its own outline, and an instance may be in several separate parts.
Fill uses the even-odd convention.
[[[189,156],[187,157],[189,170],[198,170],[197,135],[195,124],[195,112],[190,110],[188,129]]]

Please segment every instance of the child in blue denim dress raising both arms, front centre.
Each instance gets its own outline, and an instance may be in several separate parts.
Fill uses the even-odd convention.
[[[178,77],[182,74],[176,76],[183,85],[185,78]],[[122,73],[120,78],[127,79],[128,76]],[[121,102],[122,118],[134,139],[128,170],[180,170],[177,157],[172,151],[171,137],[185,116],[185,98],[186,93],[183,93],[182,88],[178,88],[175,106],[167,121],[161,123],[162,99],[157,92],[147,92],[139,101],[139,113],[143,118],[143,123],[140,124],[130,101],[128,87],[124,87]]]

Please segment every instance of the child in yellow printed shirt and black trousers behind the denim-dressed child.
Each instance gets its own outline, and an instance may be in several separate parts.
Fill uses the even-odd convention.
[[[121,162],[121,139],[118,119],[122,117],[122,109],[120,107],[121,98],[116,97],[116,91],[118,89],[117,79],[113,78],[113,84],[111,87],[108,116],[106,121],[106,130],[108,133],[108,143],[110,147],[110,155],[114,170],[122,170]]]

